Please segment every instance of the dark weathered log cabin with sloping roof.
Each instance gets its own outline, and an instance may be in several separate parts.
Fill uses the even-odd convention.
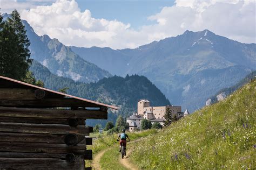
[[[0,76],[0,169],[91,169],[86,119],[111,105]]]

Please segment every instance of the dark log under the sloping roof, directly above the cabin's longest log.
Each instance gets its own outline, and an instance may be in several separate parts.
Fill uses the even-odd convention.
[[[42,100],[0,100],[0,106],[21,108],[88,107],[100,108],[101,105],[76,98],[45,98]]]

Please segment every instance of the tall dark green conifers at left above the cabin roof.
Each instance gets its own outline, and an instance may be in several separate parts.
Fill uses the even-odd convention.
[[[0,18],[0,75],[22,80],[31,64],[30,41],[17,10],[3,22]]]

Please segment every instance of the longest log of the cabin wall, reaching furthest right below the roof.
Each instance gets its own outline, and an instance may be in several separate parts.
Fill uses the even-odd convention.
[[[107,112],[100,110],[62,110],[0,107],[0,117],[107,119]]]

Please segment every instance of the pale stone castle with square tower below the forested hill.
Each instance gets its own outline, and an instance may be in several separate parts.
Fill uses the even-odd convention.
[[[137,113],[134,113],[132,116],[126,119],[126,122],[129,123],[129,130],[133,131],[140,129],[143,119],[150,120],[152,124],[159,122],[161,125],[164,125],[164,115],[167,108],[172,111],[172,116],[176,115],[178,118],[184,116],[184,113],[181,112],[180,106],[166,105],[162,107],[152,107],[150,106],[150,101],[139,100]],[[188,113],[187,110],[186,112]]]

